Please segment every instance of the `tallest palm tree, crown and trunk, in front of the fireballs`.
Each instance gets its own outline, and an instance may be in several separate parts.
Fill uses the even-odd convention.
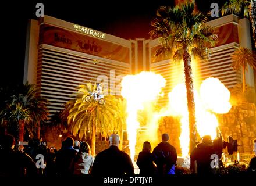
[[[195,103],[191,56],[206,61],[208,47],[214,46],[217,35],[214,28],[205,25],[207,15],[194,9],[193,2],[170,6],[161,6],[157,17],[152,20],[151,38],[159,38],[161,47],[155,55],[170,53],[173,62],[183,59],[185,83],[187,89],[187,108],[189,110],[190,152],[195,148]]]

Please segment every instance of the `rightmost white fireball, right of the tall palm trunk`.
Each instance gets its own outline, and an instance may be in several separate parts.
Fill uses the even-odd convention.
[[[207,78],[200,87],[200,100],[195,101],[197,131],[200,137],[216,138],[218,119],[215,113],[227,113],[231,109],[230,92],[218,78]]]

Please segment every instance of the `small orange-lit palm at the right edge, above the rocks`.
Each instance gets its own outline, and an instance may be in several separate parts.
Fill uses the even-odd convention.
[[[248,70],[247,66],[251,66],[253,69],[256,69],[256,59],[253,55],[253,52],[244,47],[238,48],[232,57],[232,67],[234,70],[239,71],[242,68],[243,74],[243,94],[246,91],[246,70]]]

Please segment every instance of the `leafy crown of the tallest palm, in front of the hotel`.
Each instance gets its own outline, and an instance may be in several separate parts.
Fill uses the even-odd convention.
[[[151,38],[159,38],[160,48],[155,56],[170,55],[173,62],[183,58],[184,49],[200,60],[207,60],[209,47],[218,40],[213,27],[205,25],[207,15],[194,9],[194,1],[174,8],[161,6],[152,20]]]

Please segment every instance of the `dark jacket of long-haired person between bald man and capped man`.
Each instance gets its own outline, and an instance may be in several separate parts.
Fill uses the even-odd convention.
[[[147,176],[154,174],[153,155],[151,152],[141,151],[138,154],[136,164],[140,168],[141,175]]]

